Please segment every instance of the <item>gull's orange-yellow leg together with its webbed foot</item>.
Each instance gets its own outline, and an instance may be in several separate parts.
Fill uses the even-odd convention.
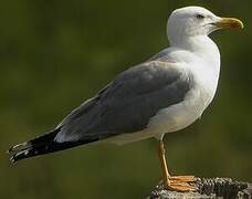
[[[162,179],[166,189],[175,191],[193,191],[195,188],[188,182],[195,181],[195,176],[174,176],[171,177],[168,171],[166,161],[166,150],[162,140],[159,140],[158,155],[161,164]]]

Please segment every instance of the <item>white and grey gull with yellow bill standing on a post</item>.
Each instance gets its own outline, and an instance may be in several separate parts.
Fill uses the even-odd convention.
[[[241,29],[243,24],[200,7],[175,10],[168,20],[169,48],[119,74],[52,132],[11,147],[11,160],[87,143],[122,145],[156,137],[166,188],[193,190],[188,184],[193,176],[169,175],[162,137],[192,124],[211,103],[220,53],[208,35],[223,28]]]

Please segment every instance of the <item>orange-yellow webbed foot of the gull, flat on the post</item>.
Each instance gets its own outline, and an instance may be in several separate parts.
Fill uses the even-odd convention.
[[[172,176],[169,177],[169,181],[165,185],[165,188],[179,192],[195,191],[196,188],[189,185],[189,182],[193,181],[196,181],[195,176]]]

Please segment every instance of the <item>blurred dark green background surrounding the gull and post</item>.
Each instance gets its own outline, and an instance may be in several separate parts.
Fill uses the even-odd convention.
[[[160,180],[155,139],[78,147],[12,166],[4,150],[52,129],[119,72],[168,45],[179,7],[244,21],[212,35],[219,90],[196,124],[166,136],[170,171],[252,181],[252,12],[249,0],[8,0],[0,3],[0,198],[144,198]]]

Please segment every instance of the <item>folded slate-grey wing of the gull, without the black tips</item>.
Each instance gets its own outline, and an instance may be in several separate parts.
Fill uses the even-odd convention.
[[[191,82],[190,74],[171,63],[153,61],[132,67],[72,112],[55,139],[103,139],[141,130],[159,109],[181,102]]]

